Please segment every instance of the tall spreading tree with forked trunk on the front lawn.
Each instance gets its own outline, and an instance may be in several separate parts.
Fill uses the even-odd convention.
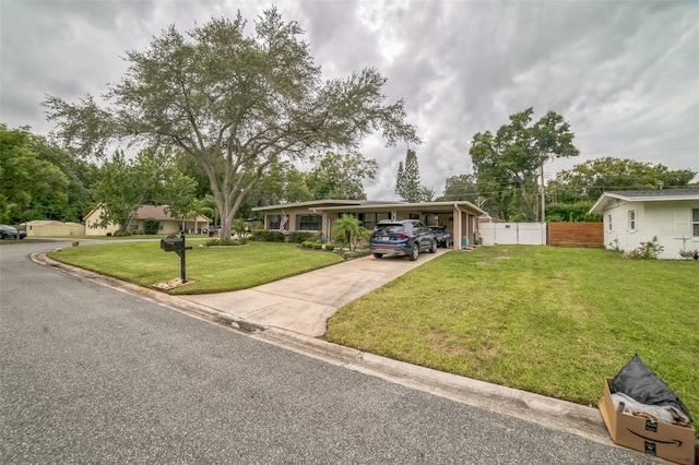
[[[246,21],[214,19],[187,35],[175,26],[144,51],[128,50],[127,73],[103,96],[44,102],[57,132],[79,153],[103,155],[116,139],[177,147],[206,174],[221,238],[247,192],[281,159],[337,148],[354,151],[380,130],[389,145],[419,140],[404,122],[404,103],[384,105],[376,69],[322,82],[296,22],[263,12],[254,34]]]

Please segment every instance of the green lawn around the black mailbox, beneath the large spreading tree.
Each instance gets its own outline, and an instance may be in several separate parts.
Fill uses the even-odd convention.
[[[173,289],[170,294],[246,289],[343,261],[335,253],[301,250],[295,243],[198,247],[202,242],[203,239],[187,241],[193,246],[186,255],[187,279],[196,283]],[[48,257],[145,287],[180,276],[179,257],[161,250],[157,241],[69,247],[49,252]]]

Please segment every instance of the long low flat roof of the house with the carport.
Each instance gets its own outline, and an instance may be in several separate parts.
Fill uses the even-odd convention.
[[[286,203],[282,205],[257,206],[254,212],[269,210],[307,207],[323,212],[353,212],[366,210],[420,210],[427,213],[452,212],[454,205],[469,210],[478,215],[485,215],[485,211],[478,208],[471,202],[420,202],[406,203],[398,201],[367,201],[367,200],[315,200],[309,202]]]

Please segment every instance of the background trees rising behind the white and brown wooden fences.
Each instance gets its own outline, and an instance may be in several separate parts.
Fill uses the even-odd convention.
[[[464,200],[506,220],[601,220],[588,211],[604,191],[697,187],[697,172],[657,164],[601,157],[544,182],[545,164],[578,156],[568,122],[553,111],[532,121],[533,109],[510,116],[497,132],[476,133],[469,151],[473,174],[447,178],[438,201]],[[542,208],[542,202],[544,208]]]

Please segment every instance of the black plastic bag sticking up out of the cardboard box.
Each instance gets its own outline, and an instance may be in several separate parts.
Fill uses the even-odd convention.
[[[638,354],[614,377],[609,391],[624,393],[645,405],[670,405],[684,413],[691,421],[687,406],[643,363]]]

